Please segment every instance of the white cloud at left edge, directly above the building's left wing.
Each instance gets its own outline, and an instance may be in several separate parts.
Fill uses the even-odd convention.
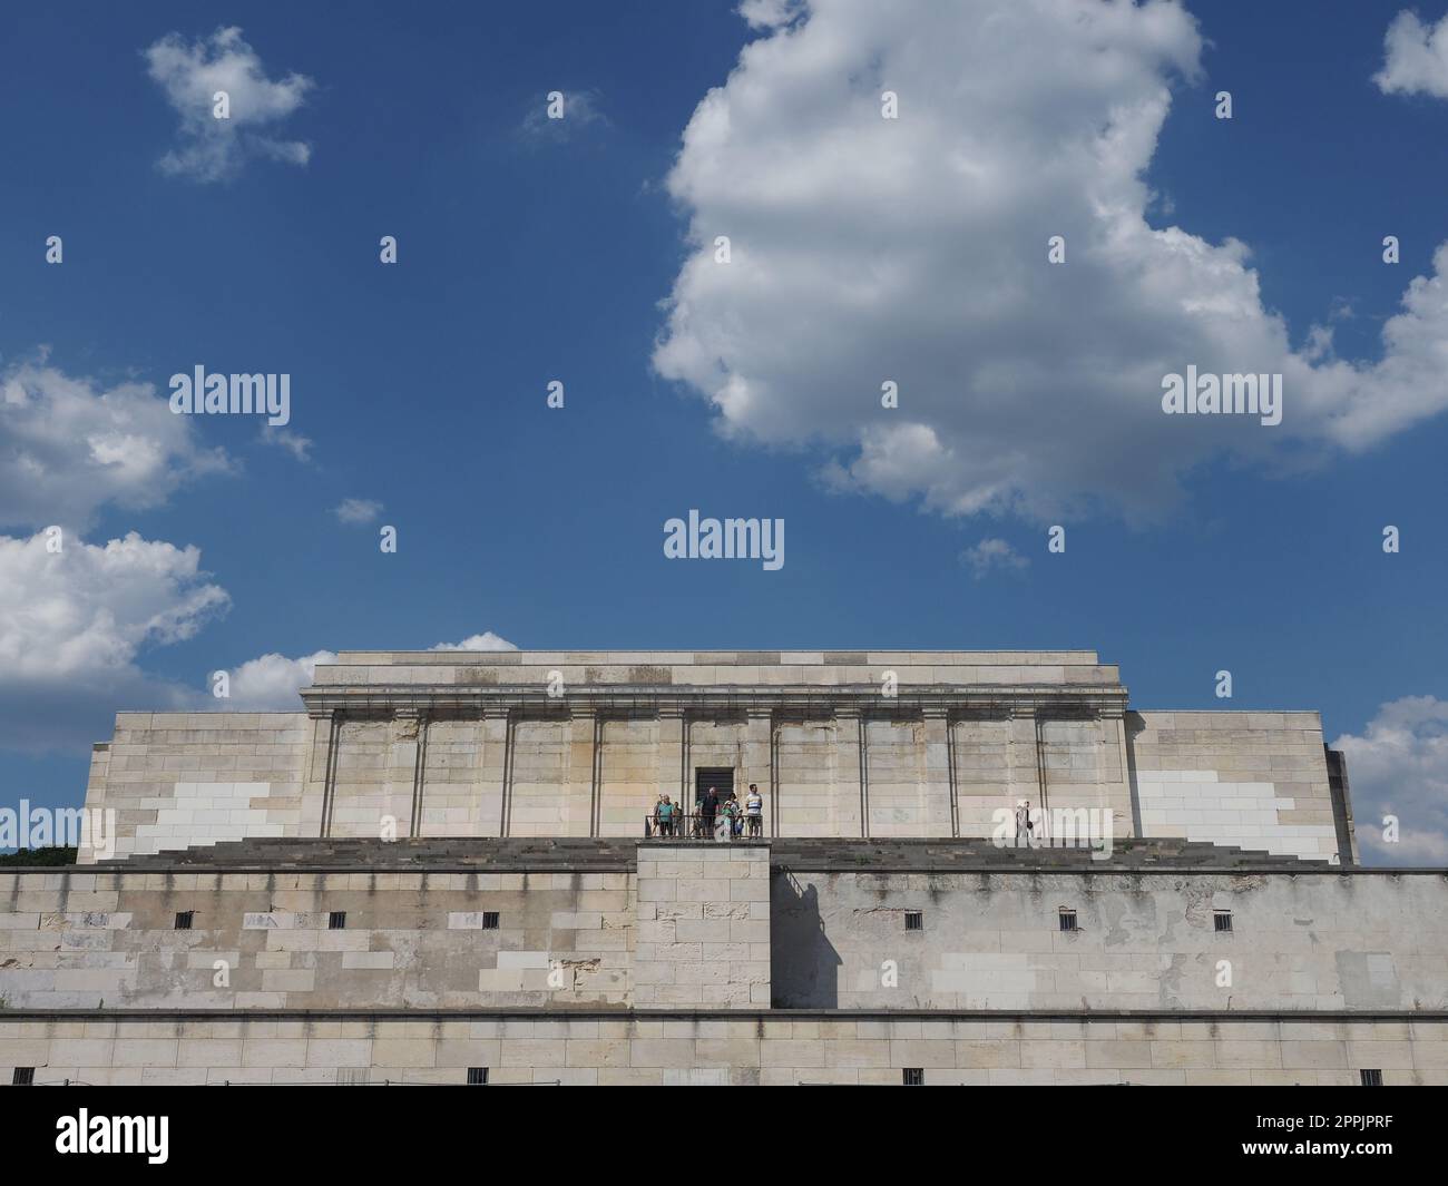
[[[193,637],[230,604],[195,547],[135,531],[106,544],[0,536],[0,746],[45,750],[110,733],[119,708],[184,707],[143,672],[148,647]]]

